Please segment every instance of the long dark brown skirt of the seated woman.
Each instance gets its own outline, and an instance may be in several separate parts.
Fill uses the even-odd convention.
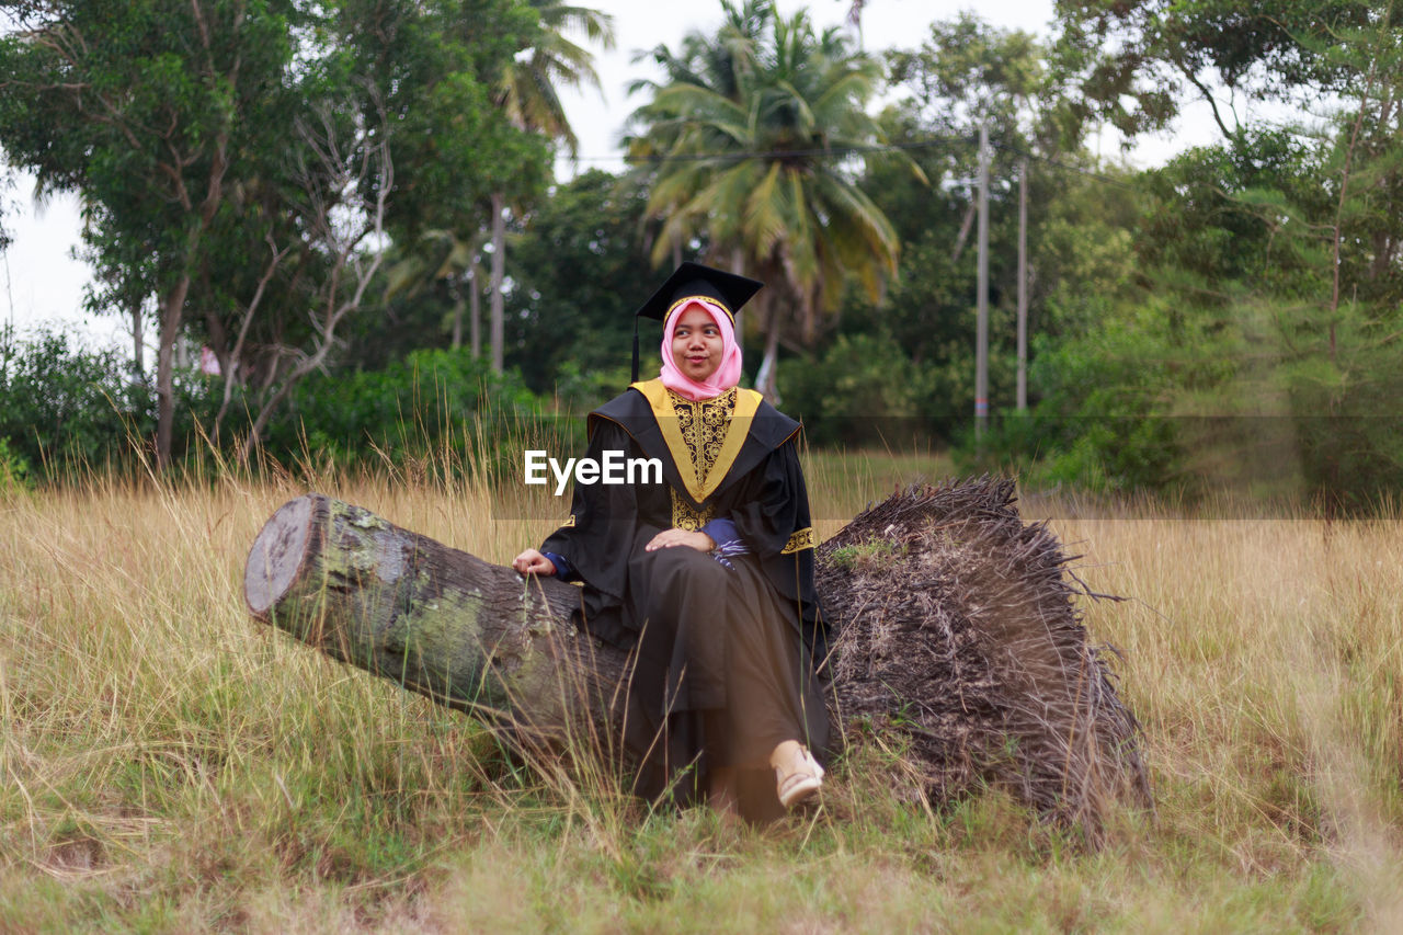
[[[704,802],[711,771],[731,767],[741,813],[767,820],[783,814],[770,751],[797,740],[822,758],[828,712],[798,608],[753,557],[730,563],[683,546],[630,557],[640,636],[624,745],[640,796]]]

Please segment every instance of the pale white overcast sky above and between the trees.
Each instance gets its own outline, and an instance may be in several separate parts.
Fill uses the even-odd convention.
[[[586,168],[617,171],[623,160],[617,139],[624,118],[641,100],[629,98],[627,86],[638,77],[659,77],[651,63],[633,63],[637,52],[659,42],[678,48],[683,35],[693,29],[706,32],[720,25],[721,6],[716,0],[676,3],[675,0],[582,0],[602,13],[613,15],[616,44],[612,51],[595,46],[595,67],[599,88],[565,90],[563,102],[571,125],[579,138],[579,160],[557,163],[557,177],[570,178]],[[850,0],[777,0],[781,14],[790,15],[808,7],[815,27],[842,27]],[[958,0],[867,0],[861,17],[863,46],[868,51],[891,48],[919,48],[929,35],[932,22],[948,20],[962,10],[976,10],[996,27],[1019,28],[1048,37],[1052,21],[1052,0],[1012,0],[974,7]],[[1208,142],[1214,131],[1202,114],[1190,111],[1173,135],[1141,143],[1134,160],[1139,164],[1163,161],[1187,145]],[[55,197],[39,206],[34,202],[32,178],[21,177],[10,192],[14,211],[4,212],[4,225],[14,243],[3,257],[4,293],[0,293],[0,319],[11,321],[20,331],[34,324],[67,324],[88,336],[98,345],[130,345],[126,321],[121,317],[93,319],[84,316],[83,286],[90,278],[86,264],[72,257],[79,243],[81,219],[77,201]],[[152,336],[147,336],[147,343]]]

